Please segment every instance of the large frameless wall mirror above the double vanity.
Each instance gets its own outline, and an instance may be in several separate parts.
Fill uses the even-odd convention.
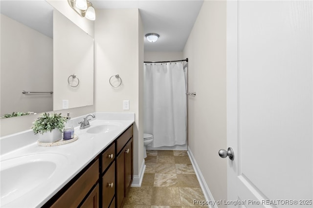
[[[0,11],[0,117],[92,105],[93,38],[45,0]]]

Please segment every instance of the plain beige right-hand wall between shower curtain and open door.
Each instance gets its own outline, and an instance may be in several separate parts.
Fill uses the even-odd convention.
[[[214,200],[227,199],[226,1],[204,1],[183,51],[189,59],[188,146]],[[221,207],[221,206],[219,206]]]

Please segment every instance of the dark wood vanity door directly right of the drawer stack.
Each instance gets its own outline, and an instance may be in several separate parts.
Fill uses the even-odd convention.
[[[125,149],[116,157],[116,205],[120,208],[125,197]]]

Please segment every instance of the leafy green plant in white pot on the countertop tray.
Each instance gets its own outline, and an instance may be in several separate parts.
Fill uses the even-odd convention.
[[[62,139],[62,132],[67,118],[61,113],[43,113],[33,122],[32,129],[39,142],[52,143]]]

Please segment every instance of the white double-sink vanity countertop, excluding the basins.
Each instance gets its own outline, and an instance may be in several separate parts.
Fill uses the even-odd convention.
[[[120,125],[116,130],[98,134],[87,133],[89,128],[79,129],[79,126],[77,126],[75,127],[75,134],[78,135],[78,140],[72,143],[61,146],[38,146],[37,140],[33,140],[32,143],[26,146],[6,152],[5,154],[1,153],[1,163],[12,158],[14,160],[14,158],[21,156],[41,157],[44,154],[47,157],[54,157],[56,155],[54,159],[58,160],[57,164],[59,164],[54,173],[44,183],[41,183],[8,204],[1,202],[1,207],[33,208],[43,206],[124,130],[134,123],[134,113],[94,113],[94,115],[96,118],[90,121],[89,128],[105,122],[116,122]],[[84,117],[75,118],[73,121],[81,121]],[[29,136],[29,132],[24,133]],[[8,136],[5,139],[8,139]],[[7,145],[7,140],[3,144]],[[1,149],[4,148],[3,144],[1,143]],[[1,195],[1,197],[3,196]]]

